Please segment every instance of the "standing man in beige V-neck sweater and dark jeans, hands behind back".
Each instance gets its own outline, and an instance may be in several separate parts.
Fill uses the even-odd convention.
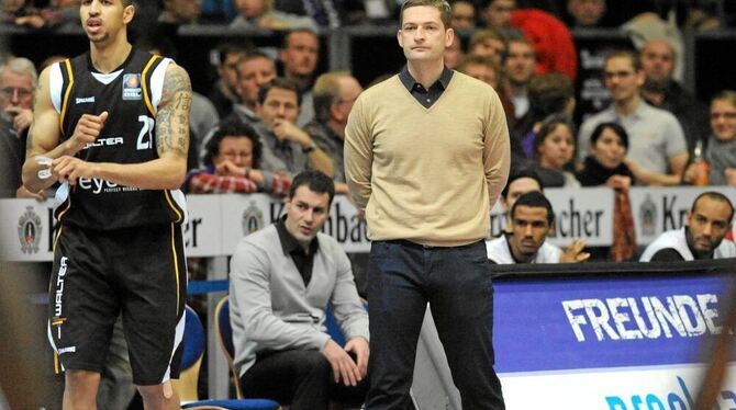
[[[493,372],[493,289],[483,239],[509,174],[493,89],[445,68],[443,0],[408,0],[406,67],[364,91],[346,129],[346,180],[365,212],[371,387],[366,409],[404,409],[430,303],[464,409],[503,409]]]

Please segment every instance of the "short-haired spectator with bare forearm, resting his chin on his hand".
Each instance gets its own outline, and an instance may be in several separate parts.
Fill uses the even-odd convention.
[[[255,129],[264,145],[263,167],[289,175],[310,167],[332,176],[330,157],[294,124],[299,103],[297,84],[286,78],[276,78],[258,91],[257,113],[261,122]]]

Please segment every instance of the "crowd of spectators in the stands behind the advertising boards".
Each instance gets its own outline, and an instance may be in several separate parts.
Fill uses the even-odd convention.
[[[317,169],[334,179],[337,193],[346,193],[345,124],[358,94],[371,84],[361,84],[349,71],[322,72],[319,62],[328,50],[321,49],[320,35],[349,25],[394,25],[400,1],[135,3],[136,19],[157,27],[136,46],[175,58],[186,50],[174,49],[171,38],[159,34],[176,33],[180,25],[282,31],[282,44],[276,48],[257,48],[243,37],[223,41],[213,50],[216,80],[193,98],[185,190],[285,195],[294,174]],[[74,27],[77,4],[78,0],[4,0],[0,22],[49,32]],[[543,187],[607,185],[616,190],[616,206],[624,208],[632,185],[736,185],[736,93],[723,90],[711,101],[699,101],[682,86],[682,33],[727,29],[736,15],[728,2],[450,4],[459,35],[447,48],[445,64],[498,92],[511,134],[512,173],[532,170]],[[605,49],[598,62],[601,75],[578,90],[576,80],[586,61],[579,60],[583,50],[570,34],[577,27],[620,27],[635,46]],[[37,70],[22,54],[3,59],[0,132],[8,159],[2,161],[3,186],[10,186],[4,197],[47,195],[27,192],[19,175],[37,76],[64,58],[51,54]],[[589,94],[596,95],[592,105]]]

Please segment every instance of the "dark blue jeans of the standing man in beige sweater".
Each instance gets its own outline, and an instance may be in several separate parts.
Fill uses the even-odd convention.
[[[427,248],[397,240],[375,241],[368,260],[366,410],[411,409],[409,390],[427,303],[462,409],[504,409],[493,372],[493,288],[486,243]]]

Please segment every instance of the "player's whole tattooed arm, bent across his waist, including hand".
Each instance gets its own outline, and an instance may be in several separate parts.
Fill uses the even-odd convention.
[[[156,113],[158,158],[142,163],[85,162],[75,157],[54,160],[54,174],[76,184],[77,179],[100,178],[120,185],[146,190],[176,190],[187,173],[191,84],[183,68],[170,64],[164,78],[164,92]]]

